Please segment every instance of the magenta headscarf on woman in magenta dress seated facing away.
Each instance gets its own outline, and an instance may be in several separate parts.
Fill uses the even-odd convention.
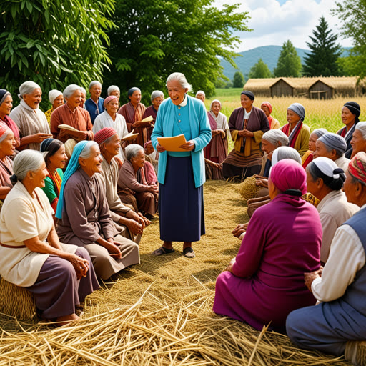
[[[283,159],[275,164],[269,174],[273,184],[281,192],[301,196],[307,192],[305,169],[295,160]],[[286,192],[291,190],[290,192]],[[295,194],[299,192],[299,194]],[[301,194],[300,194],[301,193]]]

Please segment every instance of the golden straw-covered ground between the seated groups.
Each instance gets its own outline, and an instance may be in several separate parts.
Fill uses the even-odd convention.
[[[349,365],[212,312],[215,280],[240,245],[231,231],[248,217],[235,183],[207,182],[204,207],[207,234],[194,244],[196,258],[183,257],[180,243],[173,254],[152,257],[160,245],[154,219],[142,237],[141,264],[91,294],[75,326],[2,315],[0,366]]]

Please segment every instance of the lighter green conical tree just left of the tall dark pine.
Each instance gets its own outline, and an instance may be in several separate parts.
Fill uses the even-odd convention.
[[[298,77],[301,72],[301,59],[292,42],[286,41],[282,45],[277,66],[273,71],[276,77]]]

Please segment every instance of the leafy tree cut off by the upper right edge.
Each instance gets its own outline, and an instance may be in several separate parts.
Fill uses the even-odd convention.
[[[345,38],[353,40],[353,48],[347,60],[343,60],[349,74],[366,76],[366,0],[336,1],[332,14],[343,22],[341,30]]]

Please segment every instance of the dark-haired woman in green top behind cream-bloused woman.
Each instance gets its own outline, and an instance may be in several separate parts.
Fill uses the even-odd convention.
[[[54,212],[56,212],[62,179],[64,178],[62,169],[64,169],[68,160],[65,145],[56,139],[45,139],[41,143],[41,152],[46,154],[44,161],[46,162],[47,172],[49,173],[44,179],[44,187],[42,189],[46,193]]]

